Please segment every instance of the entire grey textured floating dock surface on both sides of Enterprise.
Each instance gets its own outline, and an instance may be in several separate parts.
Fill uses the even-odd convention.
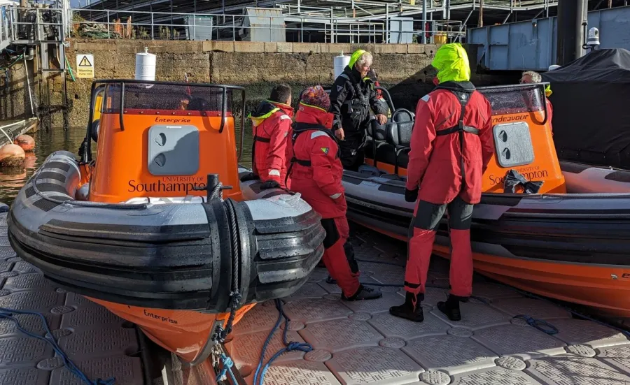
[[[360,233],[354,243],[363,282],[402,282],[404,244],[374,233]],[[436,287],[427,291],[421,324],[388,314],[391,305],[404,299],[399,287],[384,287],[379,300],[345,303],[337,286],[325,282],[327,276],[325,269],[317,268],[307,284],[283,298],[283,310],[291,319],[288,340],[309,342],[314,350],[279,356],[265,376],[266,385],[630,384],[630,340],[622,333],[573,319],[563,307],[482,277],[475,277],[476,298],[462,305],[462,321],[447,320],[435,307],[447,296],[447,290],[440,289],[448,285],[448,263],[442,259],[432,261],[428,283]],[[6,213],[0,214],[0,307],[45,314],[59,346],[90,379],[146,383],[136,328],[104,307],[55,287],[15,256],[6,238]],[[543,333],[514,319],[517,314],[545,320],[559,333]],[[27,330],[45,335],[34,316],[18,319]],[[253,384],[262,345],[277,319],[273,302],[257,305],[235,326],[226,344],[248,384]],[[283,347],[281,339],[279,329],[265,363]],[[14,324],[0,319],[0,385],[16,384],[83,382],[63,368],[41,340],[20,334]]]

